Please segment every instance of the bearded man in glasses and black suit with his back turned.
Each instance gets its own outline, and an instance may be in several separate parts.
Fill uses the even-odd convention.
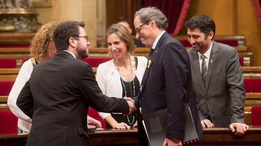
[[[135,110],[131,101],[104,96],[91,66],[80,60],[90,45],[83,27],[76,21],[58,24],[53,35],[57,54],[35,67],[17,98],[17,106],[32,119],[26,145],[86,146],[89,106],[109,113]]]

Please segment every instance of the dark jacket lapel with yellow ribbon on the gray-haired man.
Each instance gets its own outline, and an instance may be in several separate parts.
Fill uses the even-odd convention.
[[[147,78],[148,78],[148,75],[149,75],[149,70],[150,70],[151,66],[153,65],[153,62],[154,62],[154,60],[155,60],[157,54],[158,54],[159,51],[160,51],[160,46],[162,45],[162,43],[163,43],[163,41],[165,40],[165,38],[168,37],[168,36],[169,36],[169,34],[168,34],[167,32],[164,32],[163,35],[160,37],[160,40],[158,41],[158,43],[157,43],[157,45],[156,45],[156,47],[155,47],[155,50],[153,51],[153,53],[152,53],[152,55],[151,55],[151,58],[150,58],[151,63],[150,63],[150,65],[149,65],[149,68],[146,67],[146,69],[145,69],[145,72],[144,72],[144,75],[143,75],[143,78],[142,78],[142,81],[141,81],[141,85],[142,85],[142,86],[144,86],[145,83],[146,83],[146,81],[147,81]],[[148,61],[149,61],[149,60],[148,60]],[[147,66],[148,66],[148,63],[147,63]],[[141,87],[142,87],[142,86],[141,86]],[[144,89],[144,87],[141,88],[141,94],[142,94],[142,92],[143,92],[143,89]],[[141,95],[141,94],[140,94],[140,95]]]

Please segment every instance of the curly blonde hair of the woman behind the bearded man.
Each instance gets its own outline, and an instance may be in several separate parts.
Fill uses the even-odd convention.
[[[30,41],[29,50],[31,57],[41,62],[45,60],[45,53],[48,45],[54,45],[52,36],[53,30],[57,26],[56,22],[44,24],[37,30],[33,39]]]

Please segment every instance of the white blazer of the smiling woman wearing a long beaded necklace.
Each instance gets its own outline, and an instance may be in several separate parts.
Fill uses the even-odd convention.
[[[138,66],[134,72],[137,76],[140,85],[143,74],[145,72],[148,59],[143,56],[136,56],[138,58]],[[109,97],[122,98],[122,85],[120,80],[120,74],[114,66],[113,59],[98,66],[96,72],[96,81],[104,95]],[[139,93],[139,89],[136,89],[135,93]],[[110,116],[109,113],[98,112],[102,119]],[[122,113],[117,113],[122,114]]]

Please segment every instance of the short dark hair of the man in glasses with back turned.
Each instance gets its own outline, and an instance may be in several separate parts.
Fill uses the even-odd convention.
[[[79,36],[79,27],[85,27],[85,22],[65,21],[57,25],[53,32],[53,41],[57,51],[67,50],[69,38]],[[75,37],[78,40],[79,38]]]

